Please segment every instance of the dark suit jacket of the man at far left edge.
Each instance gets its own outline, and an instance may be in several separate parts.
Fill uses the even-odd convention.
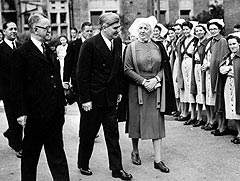
[[[0,99],[9,98],[12,52],[13,49],[5,41],[0,44]]]

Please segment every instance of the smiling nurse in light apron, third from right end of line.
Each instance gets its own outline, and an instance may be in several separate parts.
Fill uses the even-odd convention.
[[[191,93],[196,95],[197,103],[197,121],[193,127],[198,127],[205,124],[202,117],[202,108],[205,104],[205,76],[202,74],[201,65],[205,56],[205,47],[209,39],[206,38],[207,30],[203,25],[197,25],[194,28],[194,34],[198,38],[194,46],[193,52],[193,69],[192,69],[192,82]]]

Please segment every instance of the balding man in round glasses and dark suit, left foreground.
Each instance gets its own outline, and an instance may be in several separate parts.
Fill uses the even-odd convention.
[[[30,40],[13,52],[12,99],[17,121],[24,127],[22,181],[36,180],[44,145],[53,180],[68,181],[63,149],[64,92],[60,63],[45,43],[51,38],[49,20],[42,14],[29,17]]]

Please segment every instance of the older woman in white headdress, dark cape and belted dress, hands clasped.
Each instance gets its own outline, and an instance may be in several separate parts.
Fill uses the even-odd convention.
[[[125,75],[130,78],[128,132],[133,146],[131,159],[133,164],[141,165],[139,138],[152,139],[154,168],[168,173],[161,152],[162,138],[165,137],[164,114],[176,110],[170,64],[163,45],[150,39],[154,26],[148,19],[141,18],[132,26],[136,26],[138,39],[128,46],[124,63]]]

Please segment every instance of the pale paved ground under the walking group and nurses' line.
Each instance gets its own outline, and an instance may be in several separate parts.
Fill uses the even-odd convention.
[[[163,140],[164,162],[170,173],[161,173],[153,168],[152,142],[140,142],[142,165],[131,163],[131,141],[124,134],[125,123],[119,123],[120,144],[123,165],[131,172],[136,181],[239,181],[240,180],[240,145],[230,142],[231,135],[214,137],[210,132],[192,126],[183,126],[182,122],[166,117],[167,137]],[[108,159],[102,130],[96,140],[94,153],[90,162],[93,171],[91,177],[83,176],[76,167],[78,147],[79,113],[76,105],[67,108],[64,126],[65,150],[68,158],[72,181],[106,181],[114,180],[108,170]],[[20,180],[20,160],[7,146],[2,133],[7,128],[3,110],[0,111],[0,180]],[[38,181],[52,180],[44,152],[38,165]],[[119,180],[119,179],[115,179]]]

